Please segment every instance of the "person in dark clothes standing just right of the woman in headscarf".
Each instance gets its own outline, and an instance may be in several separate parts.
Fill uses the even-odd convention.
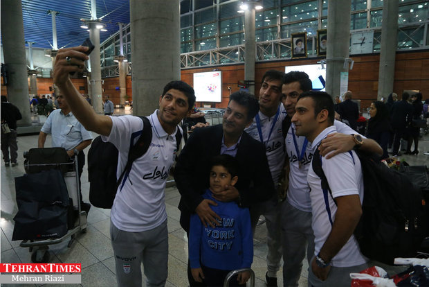
[[[410,98],[410,95],[404,92],[402,94],[402,101],[396,101],[392,107],[390,119],[394,131],[393,155],[400,155],[399,144],[401,143],[401,138],[405,133],[405,129],[411,122],[412,105],[408,103],[408,98]]]

